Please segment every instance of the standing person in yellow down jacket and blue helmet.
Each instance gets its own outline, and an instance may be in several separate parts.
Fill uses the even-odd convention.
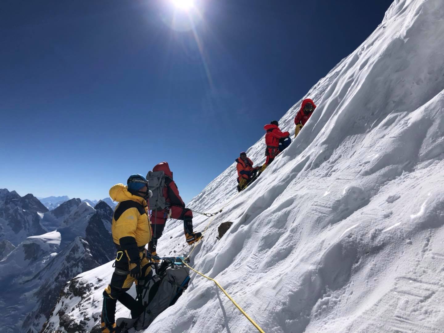
[[[104,333],[115,333],[120,332],[115,327],[117,301],[130,309],[133,317],[143,311],[127,291],[133,282],[137,284],[140,278],[152,274],[145,250],[152,236],[147,214],[147,199],[151,191],[145,177],[133,174],[128,178],[127,186],[114,185],[109,194],[112,200],[119,202],[111,226],[117,255],[111,282],[103,292],[101,329]]]

